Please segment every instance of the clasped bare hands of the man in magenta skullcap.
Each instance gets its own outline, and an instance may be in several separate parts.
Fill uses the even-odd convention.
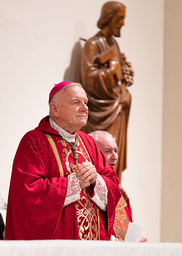
[[[81,189],[89,187],[96,182],[96,168],[91,162],[84,162],[76,165],[76,177],[80,181]],[[91,181],[92,180],[92,181]],[[91,183],[89,182],[91,181]]]

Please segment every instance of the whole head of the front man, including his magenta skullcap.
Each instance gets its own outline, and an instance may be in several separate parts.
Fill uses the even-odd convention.
[[[88,118],[86,92],[78,83],[63,81],[49,95],[49,115],[66,132],[75,134],[86,125]]]

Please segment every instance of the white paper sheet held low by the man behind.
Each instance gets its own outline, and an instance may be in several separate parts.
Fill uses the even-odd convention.
[[[125,242],[137,242],[142,236],[143,227],[129,222]]]

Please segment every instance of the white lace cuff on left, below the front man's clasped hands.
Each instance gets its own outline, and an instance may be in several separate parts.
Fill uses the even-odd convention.
[[[81,199],[80,197],[81,187],[80,181],[76,178],[75,172],[68,175],[68,188],[66,193],[65,203],[63,205],[66,206],[76,200]]]

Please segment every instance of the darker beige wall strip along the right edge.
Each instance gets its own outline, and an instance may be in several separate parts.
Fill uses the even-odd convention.
[[[164,10],[161,241],[182,243],[182,1]]]

